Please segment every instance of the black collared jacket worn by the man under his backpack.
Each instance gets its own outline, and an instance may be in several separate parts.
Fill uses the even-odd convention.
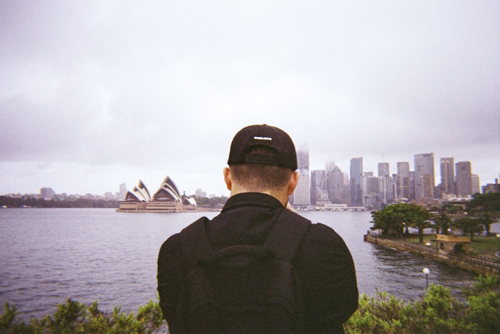
[[[207,224],[215,248],[260,245],[283,208],[272,196],[244,193],[230,197],[221,213]],[[342,324],[357,309],[354,263],[342,238],[323,224],[312,224],[291,264],[302,284],[306,333],[343,333]],[[182,234],[174,234],[158,255],[158,293],[170,333],[179,333],[173,316],[179,291],[188,272],[182,252]]]

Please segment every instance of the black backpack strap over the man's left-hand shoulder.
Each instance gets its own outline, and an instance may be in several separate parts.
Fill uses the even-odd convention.
[[[206,223],[208,218],[201,217],[191,225],[182,230],[182,251],[185,259],[189,263],[189,268],[207,254],[213,253],[214,249],[206,234]]]

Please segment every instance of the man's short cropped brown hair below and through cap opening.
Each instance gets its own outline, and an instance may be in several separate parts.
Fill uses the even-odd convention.
[[[269,147],[254,146],[247,154],[273,155],[275,152]],[[282,189],[294,172],[289,168],[264,164],[237,164],[229,165],[229,168],[234,181],[255,192]]]

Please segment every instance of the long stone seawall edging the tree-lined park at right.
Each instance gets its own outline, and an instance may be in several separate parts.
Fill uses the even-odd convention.
[[[453,255],[438,250],[434,245],[424,246],[415,245],[409,242],[386,239],[374,234],[365,234],[364,241],[384,247],[395,248],[397,250],[406,251],[414,254],[419,254],[426,258],[430,258],[439,262],[446,263],[451,266],[474,271],[478,274],[488,274],[500,277],[500,263],[498,260],[493,261],[486,258],[472,257],[466,255]]]

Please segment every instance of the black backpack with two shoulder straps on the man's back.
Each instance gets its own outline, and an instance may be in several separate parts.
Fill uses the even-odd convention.
[[[191,268],[179,308],[185,333],[301,333],[300,280],[290,261],[310,221],[283,210],[262,246],[217,251],[206,236],[207,221],[184,229]]]

